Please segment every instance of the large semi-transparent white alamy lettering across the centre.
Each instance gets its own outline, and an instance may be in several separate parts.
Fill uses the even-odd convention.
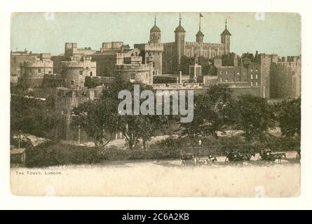
[[[187,107],[186,107],[187,92]],[[125,98],[126,97],[126,98]],[[194,118],[194,90],[156,90],[156,115],[180,115],[181,123],[190,123]],[[118,92],[120,115],[155,115],[155,94],[151,90],[140,92],[140,85],[134,85],[133,97],[129,90]],[[145,99],[140,104],[140,99]]]

